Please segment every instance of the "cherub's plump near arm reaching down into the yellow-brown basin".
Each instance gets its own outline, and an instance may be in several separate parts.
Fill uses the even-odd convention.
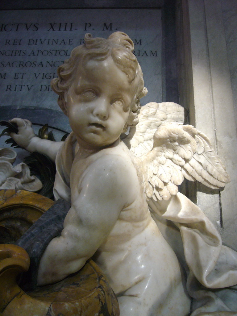
[[[123,207],[131,203],[132,174],[121,158],[111,161],[103,156],[84,174],[78,196],[72,195],[61,236],[51,240],[41,258],[39,285],[81,269],[109,235]]]

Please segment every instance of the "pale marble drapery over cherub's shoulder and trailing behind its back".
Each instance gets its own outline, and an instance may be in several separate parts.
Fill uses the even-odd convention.
[[[70,203],[70,171],[78,150],[72,132],[56,157],[54,196]],[[169,201],[150,199],[152,217],[187,275],[191,316],[237,316],[237,252],[204,213],[181,193]]]

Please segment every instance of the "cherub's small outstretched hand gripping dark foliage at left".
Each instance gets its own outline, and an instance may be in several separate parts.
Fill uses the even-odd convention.
[[[12,137],[19,146],[31,151],[29,149],[30,143],[32,138],[35,137],[33,128],[31,127],[32,123],[27,119],[20,118],[11,119],[9,122],[15,123],[18,127],[18,133],[10,133],[10,137]]]

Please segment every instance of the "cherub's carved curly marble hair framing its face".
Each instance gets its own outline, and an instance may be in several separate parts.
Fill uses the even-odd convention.
[[[74,80],[74,70],[79,62],[86,63],[90,59],[103,61],[111,56],[117,67],[127,75],[129,83],[133,82],[136,77],[138,78],[136,100],[131,109],[124,109],[125,111],[130,110],[127,125],[137,125],[137,115],[141,107],[139,100],[147,94],[147,89],[144,88],[143,73],[137,58],[132,53],[133,49],[132,40],[123,32],[112,33],[107,40],[100,37],[93,38],[91,34],[87,33],[85,44],[72,50],[70,58],[58,67],[58,78],[51,81],[53,91],[59,95],[58,105],[63,112],[67,114],[64,94]]]

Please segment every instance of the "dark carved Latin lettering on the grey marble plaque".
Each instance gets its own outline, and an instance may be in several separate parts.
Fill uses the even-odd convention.
[[[34,23],[31,25],[28,25],[27,23],[17,23],[17,24],[12,24],[8,23],[6,25],[1,25],[0,29],[1,31],[6,31],[6,32],[18,32],[22,28],[26,28],[26,30],[30,30],[30,28],[34,26],[35,31],[39,30],[39,24]],[[36,26],[37,25],[37,26]],[[68,23],[49,23],[50,28],[48,31],[67,31],[67,25]],[[11,27],[10,27],[11,26]],[[70,28],[68,30],[72,30],[73,23],[70,23]],[[92,27],[92,23],[85,23],[85,30],[88,28]],[[36,30],[37,28],[37,30]],[[104,30],[112,30],[112,22],[111,23],[104,23],[103,24],[103,31]],[[29,39],[6,39],[4,40],[4,46],[7,46],[7,49],[1,49],[0,50],[0,57],[5,56],[5,57],[32,57],[32,56],[40,56],[40,57],[65,57],[69,58],[70,57],[70,52],[71,49],[31,49],[32,46],[71,46],[75,45],[74,44],[75,40],[74,39],[41,39],[41,38],[29,38]],[[84,39],[79,39],[80,44],[84,44]],[[143,39],[133,39],[134,45],[136,46],[142,46]],[[19,49],[21,45],[28,46],[29,49]],[[11,46],[18,46],[18,49],[10,49],[12,48]],[[157,50],[149,50],[149,49],[135,49],[134,55],[136,57],[157,57]],[[14,61],[1,61],[0,62],[0,68],[47,68],[47,67],[55,67],[57,68],[60,64],[64,62],[64,59],[62,60],[57,60],[57,61],[31,61],[31,60],[14,60]],[[1,73],[0,74],[0,79],[25,79],[26,78],[26,72],[15,72],[12,77],[6,76],[7,73]],[[40,72],[40,73],[33,73],[33,80],[42,79],[49,80],[57,76],[57,72]],[[21,92],[21,91],[30,91],[30,89],[34,85],[29,85],[29,84],[6,84],[5,91],[6,92]],[[49,92],[52,91],[50,88],[50,85],[48,84],[41,84],[38,86],[38,89],[40,92]]]

